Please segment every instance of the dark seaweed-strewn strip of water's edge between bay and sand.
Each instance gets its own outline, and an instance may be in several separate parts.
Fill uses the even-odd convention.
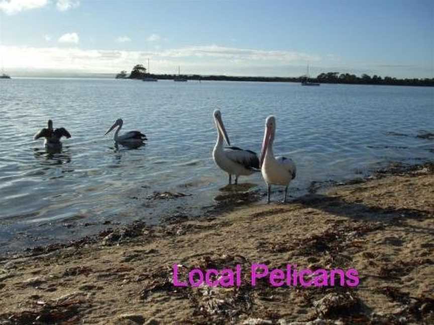
[[[409,175],[413,172],[417,172],[424,169],[431,169],[434,165],[434,161],[426,161],[422,164],[407,164],[401,161],[390,162],[387,167],[379,168],[371,171],[368,174],[361,175],[360,177],[355,177],[347,180],[325,180],[325,181],[312,181],[308,188],[303,191],[305,194],[287,200],[287,203],[297,201],[298,198],[304,197],[309,194],[324,193],[334,187],[342,187],[346,185],[363,184],[371,180],[380,179],[383,177],[388,177],[392,175]],[[240,189],[241,188],[241,189]],[[182,223],[185,221],[200,221],[201,219],[215,218],[225,213],[233,212],[236,209],[248,207],[251,204],[258,204],[261,200],[266,197],[265,192],[261,192],[257,184],[242,183],[238,185],[238,188],[231,188],[225,186],[220,189],[221,194],[214,198],[214,204],[204,206],[201,208],[203,212],[194,213],[191,216],[188,214],[183,214],[177,211],[171,212],[168,216],[159,217],[160,222],[158,223],[148,223],[146,221],[137,220],[129,223],[121,223],[116,221],[105,221],[103,223],[81,223],[74,224],[71,222],[63,223],[66,228],[70,227],[82,227],[86,228],[89,225],[95,225],[100,228],[99,231],[94,232],[90,235],[80,236],[75,240],[58,240],[51,243],[42,243],[31,245],[27,247],[22,247],[16,250],[10,250],[0,253],[0,262],[6,259],[26,257],[26,256],[37,256],[39,254],[44,254],[54,250],[68,248],[68,247],[80,247],[80,245],[87,245],[91,243],[98,242],[101,236],[112,232],[122,232],[129,231],[130,228],[137,227],[166,227],[177,223]],[[276,193],[283,193],[283,190],[279,189],[274,191]],[[177,199],[182,197],[190,197],[190,194],[183,194],[180,192],[154,192],[151,195],[154,199]],[[277,195],[278,197],[278,195]],[[36,242],[36,241],[35,241]]]

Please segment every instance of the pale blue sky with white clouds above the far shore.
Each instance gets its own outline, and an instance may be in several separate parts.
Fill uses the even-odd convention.
[[[7,72],[434,77],[432,0],[0,0]]]

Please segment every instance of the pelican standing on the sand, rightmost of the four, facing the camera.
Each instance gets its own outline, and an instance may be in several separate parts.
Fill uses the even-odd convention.
[[[274,157],[273,141],[276,133],[276,118],[271,115],[265,120],[264,142],[261,152],[261,173],[267,184],[267,203],[270,203],[271,185],[285,186],[283,203],[286,201],[288,185],[295,178],[296,168],[294,162],[287,157]]]

